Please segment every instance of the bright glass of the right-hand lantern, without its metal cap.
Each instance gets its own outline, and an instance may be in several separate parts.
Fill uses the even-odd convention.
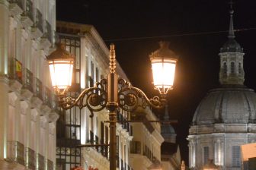
[[[156,88],[171,88],[174,83],[176,61],[158,58],[152,61],[153,80]]]

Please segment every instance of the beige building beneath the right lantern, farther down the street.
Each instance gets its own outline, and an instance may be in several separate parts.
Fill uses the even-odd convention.
[[[147,170],[155,162],[161,162],[161,144],[164,138],[158,118],[151,109],[138,109],[131,115],[133,123],[133,140],[130,142],[130,162],[134,170]],[[141,122],[139,122],[141,121]]]

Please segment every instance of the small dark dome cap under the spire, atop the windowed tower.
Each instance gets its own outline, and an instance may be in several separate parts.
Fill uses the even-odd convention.
[[[243,49],[235,41],[235,39],[228,39],[228,41],[222,46],[220,52],[243,52]]]

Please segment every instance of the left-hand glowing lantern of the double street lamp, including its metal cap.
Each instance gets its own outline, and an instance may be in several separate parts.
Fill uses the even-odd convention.
[[[56,50],[46,59],[50,68],[53,89],[57,95],[66,93],[72,83],[74,56],[66,51],[64,44],[57,43]]]

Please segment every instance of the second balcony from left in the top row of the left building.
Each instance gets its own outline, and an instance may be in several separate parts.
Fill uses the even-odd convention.
[[[23,14],[21,14],[21,24],[23,27],[28,28],[31,27],[34,23],[34,15],[33,15],[33,3],[31,0],[26,0],[26,5]]]

